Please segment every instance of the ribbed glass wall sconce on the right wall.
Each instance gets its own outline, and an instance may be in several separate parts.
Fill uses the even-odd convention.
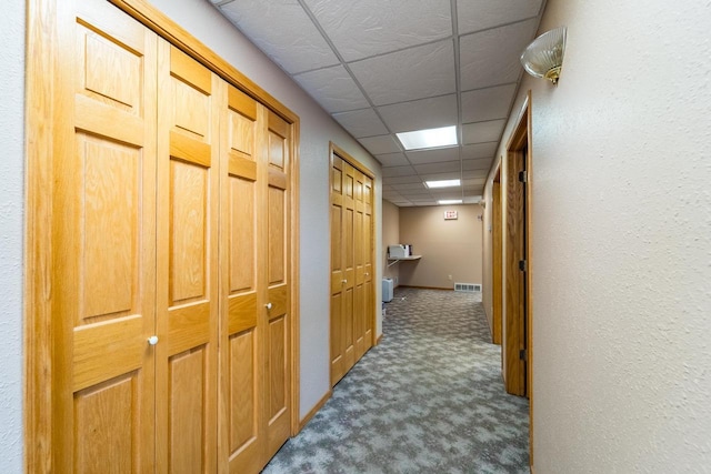
[[[564,52],[565,27],[559,27],[534,39],[521,54],[521,64],[534,78],[545,78],[555,84]]]

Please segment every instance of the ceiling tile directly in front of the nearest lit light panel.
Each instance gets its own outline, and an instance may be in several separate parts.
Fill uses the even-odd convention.
[[[455,125],[458,120],[455,94],[383,105],[378,111],[393,132]]]

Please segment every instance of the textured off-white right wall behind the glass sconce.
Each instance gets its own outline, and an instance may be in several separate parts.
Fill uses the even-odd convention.
[[[514,107],[531,89],[535,473],[705,472],[711,2],[548,0],[560,24],[559,85]]]

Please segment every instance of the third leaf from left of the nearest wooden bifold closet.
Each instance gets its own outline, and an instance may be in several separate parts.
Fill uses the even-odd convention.
[[[222,472],[264,465],[263,200],[266,110],[228,85],[222,113],[220,443]]]

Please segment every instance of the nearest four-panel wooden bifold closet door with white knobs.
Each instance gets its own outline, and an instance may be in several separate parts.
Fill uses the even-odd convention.
[[[56,103],[29,470],[257,473],[292,426],[293,124],[108,1],[30,11]]]

